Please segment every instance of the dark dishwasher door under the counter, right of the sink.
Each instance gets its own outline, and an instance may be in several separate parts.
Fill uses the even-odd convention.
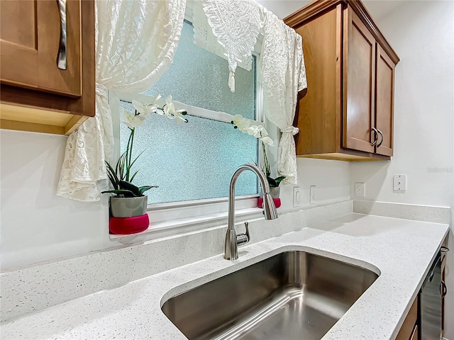
[[[441,253],[428,271],[421,288],[421,339],[441,339]]]

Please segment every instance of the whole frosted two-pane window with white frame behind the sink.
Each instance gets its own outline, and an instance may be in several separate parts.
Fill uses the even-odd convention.
[[[258,140],[230,124],[232,115],[237,113],[261,120],[256,57],[250,71],[236,69],[234,93],[228,88],[227,79],[227,61],[195,45],[192,25],[184,21],[174,61],[153,87],[142,94],[110,94],[113,118],[117,121],[120,108],[133,111],[133,99],[150,103],[157,94],[172,95],[175,106],[188,111],[189,123],[177,125],[175,120],[153,114],[135,133],[134,153],[144,152],[134,182],[138,186],[160,186],[147,192],[149,204],[174,207],[182,201],[226,201],[235,169],[258,159]],[[121,151],[126,149],[128,136],[128,128],[120,124],[116,144]],[[243,173],[238,178],[236,196],[252,201],[257,195],[255,174]]]

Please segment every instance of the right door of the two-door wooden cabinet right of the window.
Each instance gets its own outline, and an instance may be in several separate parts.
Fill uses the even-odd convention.
[[[392,156],[394,114],[394,67],[396,65],[377,43],[375,83],[375,128],[381,132],[377,140],[377,154]]]

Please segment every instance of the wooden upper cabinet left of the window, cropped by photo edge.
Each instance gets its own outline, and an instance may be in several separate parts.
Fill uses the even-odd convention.
[[[69,134],[94,116],[94,1],[0,1],[1,128]]]

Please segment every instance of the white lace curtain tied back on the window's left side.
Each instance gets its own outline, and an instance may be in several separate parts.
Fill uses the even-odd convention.
[[[170,66],[181,35],[186,0],[97,0],[96,115],[68,137],[57,195],[99,200],[104,160],[113,147],[107,90],[149,89]]]

